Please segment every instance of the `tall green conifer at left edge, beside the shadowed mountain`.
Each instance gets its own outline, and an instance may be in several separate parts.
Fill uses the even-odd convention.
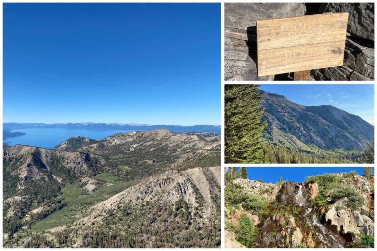
[[[258,85],[225,86],[225,162],[263,163],[262,93]]]

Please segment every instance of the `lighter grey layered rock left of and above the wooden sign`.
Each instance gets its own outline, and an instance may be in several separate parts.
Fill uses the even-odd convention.
[[[268,80],[257,76],[256,21],[303,16],[305,10],[302,3],[225,3],[225,80]]]

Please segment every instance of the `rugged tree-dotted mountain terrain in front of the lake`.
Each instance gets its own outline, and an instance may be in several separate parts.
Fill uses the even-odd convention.
[[[147,224],[141,222],[141,216],[152,217],[153,221],[162,217],[164,221],[176,222],[174,226],[177,229],[191,229],[192,222],[203,229],[191,229],[183,234],[186,242],[175,242],[165,236],[156,241],[155,245],[159,247],[176,246],[179,243],[187,246],[218,246],[220,190],[219,171],[216,170],[219,168],[209,167],[220,164],[220,138],[214,135],[204,136],[177,134],[159,129],[119,133],[103,140],[73,137],[53,150],[20,145],[5,147],[4,245],[82,246],[84,244],[75,234],[79,227],[69,226],[74,222],[85,222],[81,219],[89,219],[90,215],[96,212],[96,208],[101,208],[101,202],[107,205],[104,201],[111,201],[108,199],[111,196],[119,198],[123,193],[135,191],[137,196],[134,199],[131,200],[131,194],[135,193],[128,196],[132,203],[124,200],[117,202],[119,207],[130,206],[129,209],[134,212],[133,215],[121,216],[124,224],[134,223],[135,226],[127,235],[130,242],[123,242],[122,246],[147,245],[150,238],[148,235],[152,236],[152,233],[141,234],[136,231],[137,227],[140,229],[143,224]],[[159,190],[158,186],[168,186],[168,189]],[[171,194],[177,187],[182,191]],[[154,206],[150,206],[151,200],[143,198],[148,193],[153,193]],[[181,214],[189,215],[190,221],[185,218],[184,222],[178,224],[179,219],[176,219],[174,211],[171,210],[159,215],[156,210],[162,208],[158,207],[157,203],[162,202],[163,208],[171,210],[176,203],[185,205]],[[118,207],[111,208],[110,211],[107,209],[102,212],[101,218],[118,215],[118,210]],[[140,221],[132,218],[135,214],[140,215],[137,218]],[[119,233],[123,231],[123,225],[119,225],[121,222],[119,219],[112,223]],[[102,222],[96,224],[99,224],[98,229],[103,227]],[[64,228],[63,232],[62,229],[59,230],[61,226]],[[207,228],[212,229],[208,234],[205,231]],[[86,226],[82,226],[80,231],[85,229]],[[102,229],[108,230],[106,227]],[[158,229],[160,225],[155,230]],[[149,231],[146,228],[144,230]],[[166,234],[169,234],[175,232],[176,228],[165,230]],[[71,236],[75,243],[68,245],[61,242],[61,237],[66,235]],[[108,237],[107,242],[101,245],[119,245],[119,242],[115,243],[116,239],[114,236]],[[90,245],[97,247],[99,244]]]

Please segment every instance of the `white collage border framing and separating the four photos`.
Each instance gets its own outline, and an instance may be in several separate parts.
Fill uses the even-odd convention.
[[[225,234],[224,234],[224,226],[225,226],[225,220],[224,220],[224,167],[294,167],[294,166],[301,166],[301,167],[364,167],[364,166],[371,166],[374,167],[374,164],[224,164],[224,85],[225,84],[293,84],[292,82],[287,82],[287,81],[224,81],[224,3],[234,3],[234,2],[257,2],[255,0],[36,0],[36,1],[27,1],[27,0],[1,0],[1,3],[221,3],[221,250],[240,250],[236,248],[225,248],[224,247],[224,240],[225,240]],[[334,0],[334,1],[325,1],[325,0],[306,0],[306,1],[299,1],[299,0],[287,0],[287,1],[282,1],[282,0],[265,0],[264,2],[376,2],[376,0],[372,1],[359,1],[359,0]],[[3,32],[2,32],[2,4],[0,5],[0,13],[1,13],[1,19],[0,19],[0,36],[1,36],[1,48],[3,48]],[[3,50],[0,52],[1,59],[3,58]],[[375,55],[376,56],[376,55]],[[0,70],[0,77],[1,77],[1,83],[3,81],[3,60],[0,62],[1,70]],[[376,75],[376,68],[375,68],[375,75]],[[331,82],[331,81],[324,81],[324,82],[308,82],[308,81],[295,81],[294,84],[374,84],[374,81],[365,81],[365,82],[360,82],[360,81],[348,81],[348,82]],[[376,96],[377,96],[377,90],[374,88],[374,113],[375,113],[375,124],[376,124]],[[0,110],[1,110],[1,120],[3,118],[3,102],[2,102],[2,97],[3,97],[3,85],[1,84],[0,88],[0,97],[1,97],[1,104],[0,104]],[[2,130],[2,123],[0,125],[0,128]],[[376,135],[376,128],[375,128],[375,135]],[[1,133],[1,140],[2,140],[2,133]],[[375,137],[375,145],[376,145],[376,137]],[[3,150],[2,144],[1,144],[1,152]],[[376,150],[375,150],[375,156],[376,156]],[[2,161],[1,161],[1,169],[2,169]],[[2,176],[1,176],[1,187],[2,187]],[[1,189],[1,198],[2,198],[2,189]],[[0,209],[2,212],[2,207],[3,204],[1,203]],[[375,207],[376,207],[376,202],[375,202]],[[1,247],[2,247],[2,221],[0,223],[0,234],[1,234]],[[376,235],[375,235],[376,237]],[[31,250],[31,249],[4,249],[4,250]],[[33,249],[35,250],[35,249]],[[61,250],[61,249],[60,249]],[[87,248],[78,248],[75,250],[88,250]],[[107,250],[120,250],[120,249],[115,249],[115,248],[110,248]],[[146,250],[146,249],[133,249],[133,250]],[[150,249],[149,249],[150,250]],[[162,249],[156,249],[156,250],[171,250],[167,248],[162,248]],[[190,250],[190,249],[180,249],[180,250]],[[204,248],[199,248],[196,250],[219,250],[219,248],[211,248],[211,249],[204,249]],[[253,250],[271,250],[271,249],[266,249],[266,248],[255,248]],[[289,250],[302,250],[302,249],[289,249]],[[324,248],[319,248],[319,249],[313,249],[313,250],[319,250],[319,251],[324,251],[327,249]],[[334,249],[332,249],[334,250]],[[353,249],[354,250],[354,249]],[[365,250],[365,249],[363,249]],[[370,250],[370,249],[369,249]]]

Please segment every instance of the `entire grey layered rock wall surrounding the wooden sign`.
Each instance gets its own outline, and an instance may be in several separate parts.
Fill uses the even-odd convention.
[[[374,80],[374,3],[226,3],[225,80],[291,80],[257,76],[256,21],[348,12],[344,64],[311,71],[311,80]]]

